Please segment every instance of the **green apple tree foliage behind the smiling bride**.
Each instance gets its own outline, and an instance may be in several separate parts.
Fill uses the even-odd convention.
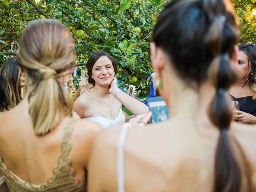
[[[1,1],[1,0],[0,0]],[[6,1],[6,2],[5,2]],[[131,84],[144,98],[150,88],[146,79],[152,72],[149,46],[156,17],[167,0],[2,0],[0,3],[1,63],[8,57],[3,52],[14,52],[22,30],[31,20],[54,18],[60,20],[72,33],[77,63],[85,63],[95,50],[104,50],[118,61],[121,86]],[[137,30],[133,30],[137,28]],[[138,28],[141,32],[138,33]],[[80,30],[79,32],[77,32]],[[83,31],[85,32],[84,36]],[[12,44],[12,45],[11,45]],[[84,76],[84,66],[79,66]],[[78,78],[74,77],[74,86]]]

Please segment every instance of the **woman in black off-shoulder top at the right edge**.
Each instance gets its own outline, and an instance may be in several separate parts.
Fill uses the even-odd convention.
[[[234,120],[256,124],[256,45],[244,43],[238,46],[234,63],[237,81],[228,90],[232,100],[238,101],[240,110],[234,110]]]

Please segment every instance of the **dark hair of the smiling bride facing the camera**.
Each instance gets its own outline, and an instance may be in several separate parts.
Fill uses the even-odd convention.
[[[92,78],[92,68],[94,66],[94,64],[98,61],[98,59],[101,57],[101,56],[107,56],[111,62],[112,62],[112,65],[114,67],[114,72],[116,73],[117,72],[117,63],[116,63],[116,60],[114,59],[114,57],[112,57],[110,54],[108,54],[107,52],[104,52],[102,50],[98,50],[98,51],[94,51],[89,59],[88,59],[88,62],[86,64],[86,68],[88,69],[88,82],[90,84],[92,84],[93,86],[95,85],[95,81],[94,79]]]

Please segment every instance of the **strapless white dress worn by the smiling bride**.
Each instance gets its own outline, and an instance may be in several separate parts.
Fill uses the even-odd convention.
[[[102,127],[102,129],[107,129],[125,123],[125,116],[122,108],[120,108],[118,116],[116,116],[115,118],[94,115],[92,117],[84,119],[98,123]]]

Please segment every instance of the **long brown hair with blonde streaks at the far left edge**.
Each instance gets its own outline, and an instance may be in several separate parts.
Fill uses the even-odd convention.
[[[0,68],[0,112],[14,108],[21,101],[20,71],[12,57]]]

